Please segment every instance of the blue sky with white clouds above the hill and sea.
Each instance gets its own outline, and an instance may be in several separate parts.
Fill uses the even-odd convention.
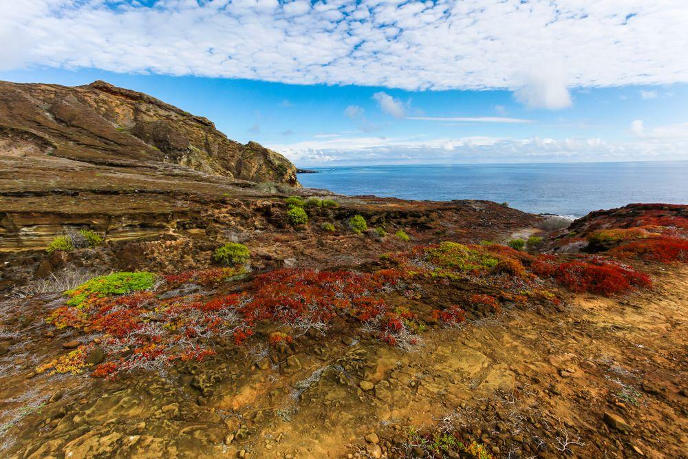
[[[0,79],[136,89],[299,167],[688,160],[685,0],[23,0]]]

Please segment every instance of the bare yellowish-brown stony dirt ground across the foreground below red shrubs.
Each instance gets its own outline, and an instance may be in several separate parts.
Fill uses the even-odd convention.
[[[4,324],[30,338],[2,358],[3,455],[413,457],[409,431],[429,430],[495,457],[687,457],[688,268],[652,274],[627,297],[429,330],[413,352],[335,326],[272,363],[233,351],[117,381],[36,375],[39,348],[69,334],[40,323],[54,299],[26,302]]]

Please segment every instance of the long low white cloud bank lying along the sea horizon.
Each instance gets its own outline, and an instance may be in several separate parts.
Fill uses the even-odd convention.
[[[687,160],[688,122],[647,129],[632,123],[636,138],[609,142],[602,138],[389,138],[329,135],[270,148],[299,165],[431,164],[442,162],[594,162],[619,160]]]

